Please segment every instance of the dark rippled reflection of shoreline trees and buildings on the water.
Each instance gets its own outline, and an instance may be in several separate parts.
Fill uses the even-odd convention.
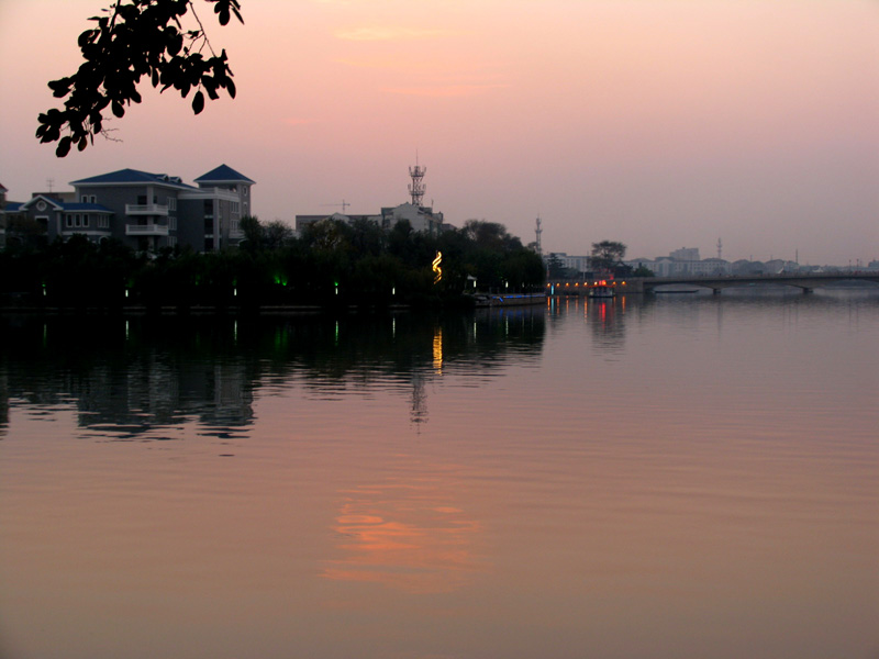
[[[425,384],[463,369],[535,359],[543,308],[475,314],[302,317],[13,316],[0,319],[0,433],[9,407],[73,406],[80,427],[115,439],[238,436],[257,390],[301,383],[315,398],[408,390],[427,421]]]

